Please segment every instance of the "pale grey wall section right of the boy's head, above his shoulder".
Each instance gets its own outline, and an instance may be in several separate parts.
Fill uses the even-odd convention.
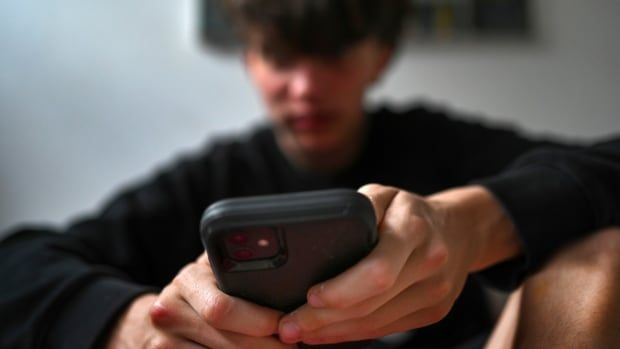
[[[408,47],[380,95],[571,137],[620,131],[620,2],[531,1],[534,42]]]

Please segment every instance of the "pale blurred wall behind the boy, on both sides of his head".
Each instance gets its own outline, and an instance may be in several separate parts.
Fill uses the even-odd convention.
[[[372,100],[432,100],[571,138],[620,131],[620,2],[533,2],[534,42],[406,45]],[[64,224],[261,119],[238,58],[193,41],[191,5],[0,2],[0,231]]]

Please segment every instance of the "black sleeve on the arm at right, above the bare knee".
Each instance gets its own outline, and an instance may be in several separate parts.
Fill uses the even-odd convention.
[[[566,243],[620,226],[620,138],[578,150],[535,149],[480,183],[503,206],[524,247],[520,257],[481,276],[512,289]]]

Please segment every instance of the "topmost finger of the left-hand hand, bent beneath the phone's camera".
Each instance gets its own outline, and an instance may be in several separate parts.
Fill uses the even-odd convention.
[[[255,337],[277,332],[281,313],[219,290],[211,270],[203,264],[190,264],[175,279],[181,296],[209,325]]]

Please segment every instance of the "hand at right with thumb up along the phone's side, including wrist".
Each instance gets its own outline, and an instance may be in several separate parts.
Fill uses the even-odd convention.
[[[359,191],[375,209],[377,246],[308,291],[308,303],[280,320],[283,342],[337,343],[430,325],[450,311],[470,271],[519,252],[512,224],[482,187],[429,198],[380,185]]]

